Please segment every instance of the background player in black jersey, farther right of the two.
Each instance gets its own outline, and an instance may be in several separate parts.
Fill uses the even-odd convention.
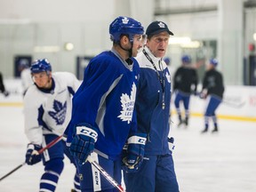
[[[204,113],[204,130],[202,133],[207,132],[209,128],[209,121],[212,118],[214,129],[212,132],[218,132],[216,109],[219,107],[224,93],[224,84],[222,74],[216,70],[218,60],[211,59],[203,80],[203,90],[200,97],[206,99],[207,107]]]

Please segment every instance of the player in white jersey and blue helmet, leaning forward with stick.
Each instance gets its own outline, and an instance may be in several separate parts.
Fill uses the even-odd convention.
[[[28,88],[24,97],[25,133],[29,140],[26,163],[33,165],[43,159],[44,173],[39,191],[50,192],[57,187],[64,167],[64,153],[72,163],[75,161],[64,140],[42,155],[36,151],[63,134],[71,116],[71,98],[80,82],[68,72],[52,73],[52,66],[46,59],[33,62],[30,70],[35,84]],[[73,191],[80,191],[77,172],[74,186]]]

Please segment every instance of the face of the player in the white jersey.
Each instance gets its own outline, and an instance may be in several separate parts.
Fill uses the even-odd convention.
[[[46,72],[36,73],[36,74],[32,74],[32,78],[38,87],[47,89],[47,88],[50,88],[52,73],[51,72],[49,72],[49,74],[47,74]]]

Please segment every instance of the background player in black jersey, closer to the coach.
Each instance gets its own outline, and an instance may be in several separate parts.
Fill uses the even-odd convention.
[[[191,94],[196,94],[198,76],[196,69],[191,65],[191,57],[183,55],[181,58],[182,65],[178,68],[173,78],[173,91],[175,92],[174,105],[179,117],[179,124],[185,124],[188,127],[189,118],[189,100]],[[185,109],[185,118],[182,116],[180,103]]]

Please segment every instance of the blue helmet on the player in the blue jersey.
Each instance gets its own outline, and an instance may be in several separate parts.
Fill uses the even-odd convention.
[[[137,20],[129,17],[119,16],[109,25],[110,39],[113,42],[120,41],[121,35],[128,35],[130,41],[133,41],[134,35],[143,35],[144,28]]]

